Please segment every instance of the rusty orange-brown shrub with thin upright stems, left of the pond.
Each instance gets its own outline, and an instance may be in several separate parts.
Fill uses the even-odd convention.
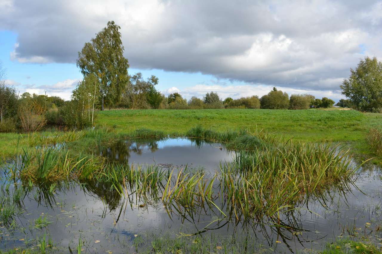
[[[40,130],[46,124],[44,108],[35,101],[21,104],[18,114],[21,127],[26,132]]]

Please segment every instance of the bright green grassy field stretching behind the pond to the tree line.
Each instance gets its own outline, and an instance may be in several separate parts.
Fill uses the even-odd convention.
[[[113,129],[118,135],[141,128],[184,135],[196,125],[215,131],[249,127],[294,140],[346,142],[357,151],[373,156],[366,136],[369,129],[382,128],[382,114],[320,109],[110,110],[100,111],[96,123]],[[44,135],[62,134],[46,130],[40,133]],[[0,133],[0,155],[14,154],[18,139],[26,136]]]

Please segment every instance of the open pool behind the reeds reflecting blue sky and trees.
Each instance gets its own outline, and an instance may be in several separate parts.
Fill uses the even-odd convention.
[[[112,161],[163,167],[200,168],[213,172],[219,163],[231,161],[235,152],[219,143],[186,138],[138,138],[120,140],[100,149],[100,155]]]

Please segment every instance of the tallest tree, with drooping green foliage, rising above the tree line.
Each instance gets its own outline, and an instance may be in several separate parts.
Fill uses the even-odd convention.
[[[128,59],[123,56],[120,26],[109,21],[91,42],[78,52],[77,66],[84,76],[94,74],[99,79],[101,109],[118,103],[129,81]]]

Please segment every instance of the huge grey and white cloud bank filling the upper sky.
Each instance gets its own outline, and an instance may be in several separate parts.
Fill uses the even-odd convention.
[[[0,12],[20,62],[75,63],[108,20],[134,68],[249,84],[335,91],[359,58],[382,56],[378,1],[5,0]]]

